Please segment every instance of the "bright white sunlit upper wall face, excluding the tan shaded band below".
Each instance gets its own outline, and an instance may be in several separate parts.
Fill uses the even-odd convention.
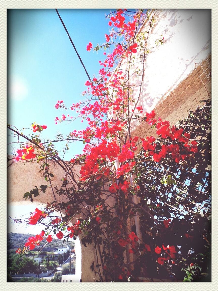
[[[154,18],[148,47],[155,46],[160,35],[164,41],[146,59],[141,102],[147,111],[211,52],[210,9],[158,10]]]

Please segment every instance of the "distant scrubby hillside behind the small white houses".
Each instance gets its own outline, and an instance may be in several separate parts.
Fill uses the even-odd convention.
[[[28,237],[31,237],[34,235],[31,235],[29,233],[7,233],[7,249],[9,250],[15,250],[17,248],[23,248],[24,244],[26,243]],[[42,241],[40,243],[40,246],[36,247],[34,250],[39,251],[46,241]],[[72,249],[74,248],[74,241],[65,241],[63,242],[62,239],[52,239],[51,243],[46,244],[46,246],[43,248],[44,251],[55,251],[58,248],[70,246]]]

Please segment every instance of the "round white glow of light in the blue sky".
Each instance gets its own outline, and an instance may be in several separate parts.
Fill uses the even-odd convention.
[[[12,100],[20,101],[26,98],[28,94],[28,88],[24,79],[14,77],[11,79],[8,85],[9,97]]]

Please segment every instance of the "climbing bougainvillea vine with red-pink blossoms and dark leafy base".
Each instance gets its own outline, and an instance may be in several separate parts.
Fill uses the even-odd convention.
[[[110,32],[105,43],[94,47],[88,40],[86,47],[87,52],[103,50],[99,76],[85,82],[84,100],[76,104],[58,100],[55,105],[67,112],[55,123],[87,121],[85,129],[71,129],[64,139],[65,150],[73,141],[83,142],[83,154],[69,162],[61,159],[54,142],[63,137],[42,142],[46,125],[32,123],[29,135],[8,125],[25,140],[9,164],[37,162],[45,179],[24,198],[32,202],[48,190],[54,197],[23,220],[45,227],[17,253],[33,250],[42,241],[49,243],[53,236],[64,240],[79,236],[85,247],[94,245],[97,259],[90,267],[96,281],[210,280],[209,125],[199,132],[198,118],[192,122],[189,118],[189,123],[171,127],[155,110],[144,111],[140,98],[146,57],[165,41],[160,36],[154,47],[148,45],[155,10],[118,9],[107,18]],[[154,136],[136,136],[133,129],[138,123],[147,123]],[[53,180],[53,163],[65,171],[60,188]]]

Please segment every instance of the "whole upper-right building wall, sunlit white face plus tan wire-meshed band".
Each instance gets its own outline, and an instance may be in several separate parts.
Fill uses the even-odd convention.
[[[135,102],[139,99],[137,106],[142,106],[144,113],[156,108],[161,118],[169,116],[175,124],[184,114],[173,111],[181,106],[184,112],[184,107],[194,99],[197,105],[199,95],[204,98],[211,88],[211,10],[164,9],[153,10],[150,15],[154,19],[151,28],[149,22],[145,22],[139,31],[145,36],[149,31],[148,40],[144,41],[149,51],[144,66],[143,52],[139,49],[131,61],[132,97]],[[163,44],[156,46],[156,41],[163,37]],[[128,63],[122,62],[121,68],[128,69]],[[140,86],[143,71],[144,80]],[[131,122],[132,129],[138,125],[137,121]]]

